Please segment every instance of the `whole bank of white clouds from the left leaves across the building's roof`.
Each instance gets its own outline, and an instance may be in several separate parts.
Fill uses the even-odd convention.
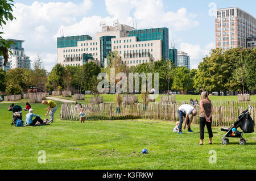
[[[175,31],[199,26],[196,15],[189,14],[184,7],[177,11],[164,10],[163,0],[105,0],[105,5],[109,16],[88,16],[93,6],[91,0],[81,3],[35,1],[31,5],[15,3],[13,14],[16,20],[4,27],[5,37],[25,40],[23,47],[27,56],[32,60],[40,54],[47,70],[51,70],[57,58],[56,37],[60,36],[60,29],[64,36],[94,36],[100,31],[101,21],[112,25],[118,18],[120,23],[130,26],[136,20],[138,28],[167,27],[171,39],[171,33]],[[180,37],[175,39],[182,42]]]

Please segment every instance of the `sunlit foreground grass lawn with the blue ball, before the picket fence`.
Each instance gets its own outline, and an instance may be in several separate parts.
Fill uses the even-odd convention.
[[[31,106],[44,118],[46,106]],[[237,138],[224,146],[224,132],[214,127],[214,144],[208,144],[206,132],[205,144],[199,146],[196,124],[195,133],[183,135],[172,133],[174,123],[155,120],[81,124],[61,121],[58,106],[53,124],[15,128],[9,104],[0,103],[0,169],[255,169],[256,133],[245,134],[245,146]],[[148,154],[141,153],[144,148]],[[46,151],[46,164],[38,163],[39,150]],[[216,164],[208,162],[210,150],[217,153]]]

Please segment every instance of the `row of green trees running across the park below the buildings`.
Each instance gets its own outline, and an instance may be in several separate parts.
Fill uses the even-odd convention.
[[[97,94],[99,73],[107,73],[115,68],[115,75],[126,73],[159,73],[159,92],[168,91],[246,91],[255,90],[256,48],[234,48],[226,50],[212,49],[209,56],[203,58],[198,69],[189,70],[175,67],[171,60],[149,61],[137,66],[123,64],[117,52],[108,56],[109,66],[100,68],[93,62],[82,66],[62,66],[56,64],[48,76],[42,65],[40,56],[34,62],[33,70],[10,69],[0,70],[0,91],[7,94],[27,92],[29,87],[44,85],[48,91],[70,90],[81,93],[91,91]],[[152,78],[154,81],[154,77]],[[101,80],[100,80],[101,81]],[[118,80],[115,81],[117,83]],[[110,82],[109,82],[110,85]],[[153,82],[154,85],[154,82]],[[110,86],[109,86],[110,87]],[[104,88],[104,87],[102,87]]]

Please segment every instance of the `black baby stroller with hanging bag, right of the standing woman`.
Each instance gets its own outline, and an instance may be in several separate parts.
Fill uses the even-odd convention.
[[[225,136],[222,138],[222,145],[227,145],[229,143],[229,139],[227,137],[232,138],[240,138],[239,145],[245,145],[245,138],[243,138],[243,133],[253,133],[254,132],[254,121],[250,116],[251,106],[249,105],[249,110],[245,110],[238,116],[238,120],[233,123],[230,128],[221,128],[221,131],[227,132]],[[242,132],[236,130],[236,134],[233,134],[233,128],[241,128]]]

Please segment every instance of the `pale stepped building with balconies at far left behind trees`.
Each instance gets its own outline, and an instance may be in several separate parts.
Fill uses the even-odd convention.
[[[0,56],[0,69],[9,70],[15,68],[23,68],[23,69],[31,69],[31,60],[30,57],[26,56],[24,52],[24,48],[22,47],[23,40],[14,40],[7,39],[13,41],[15,44],[12,44],[10,47],[13,55],[9,57],[9,60],[6,66],[3,66],[3,56]]]

